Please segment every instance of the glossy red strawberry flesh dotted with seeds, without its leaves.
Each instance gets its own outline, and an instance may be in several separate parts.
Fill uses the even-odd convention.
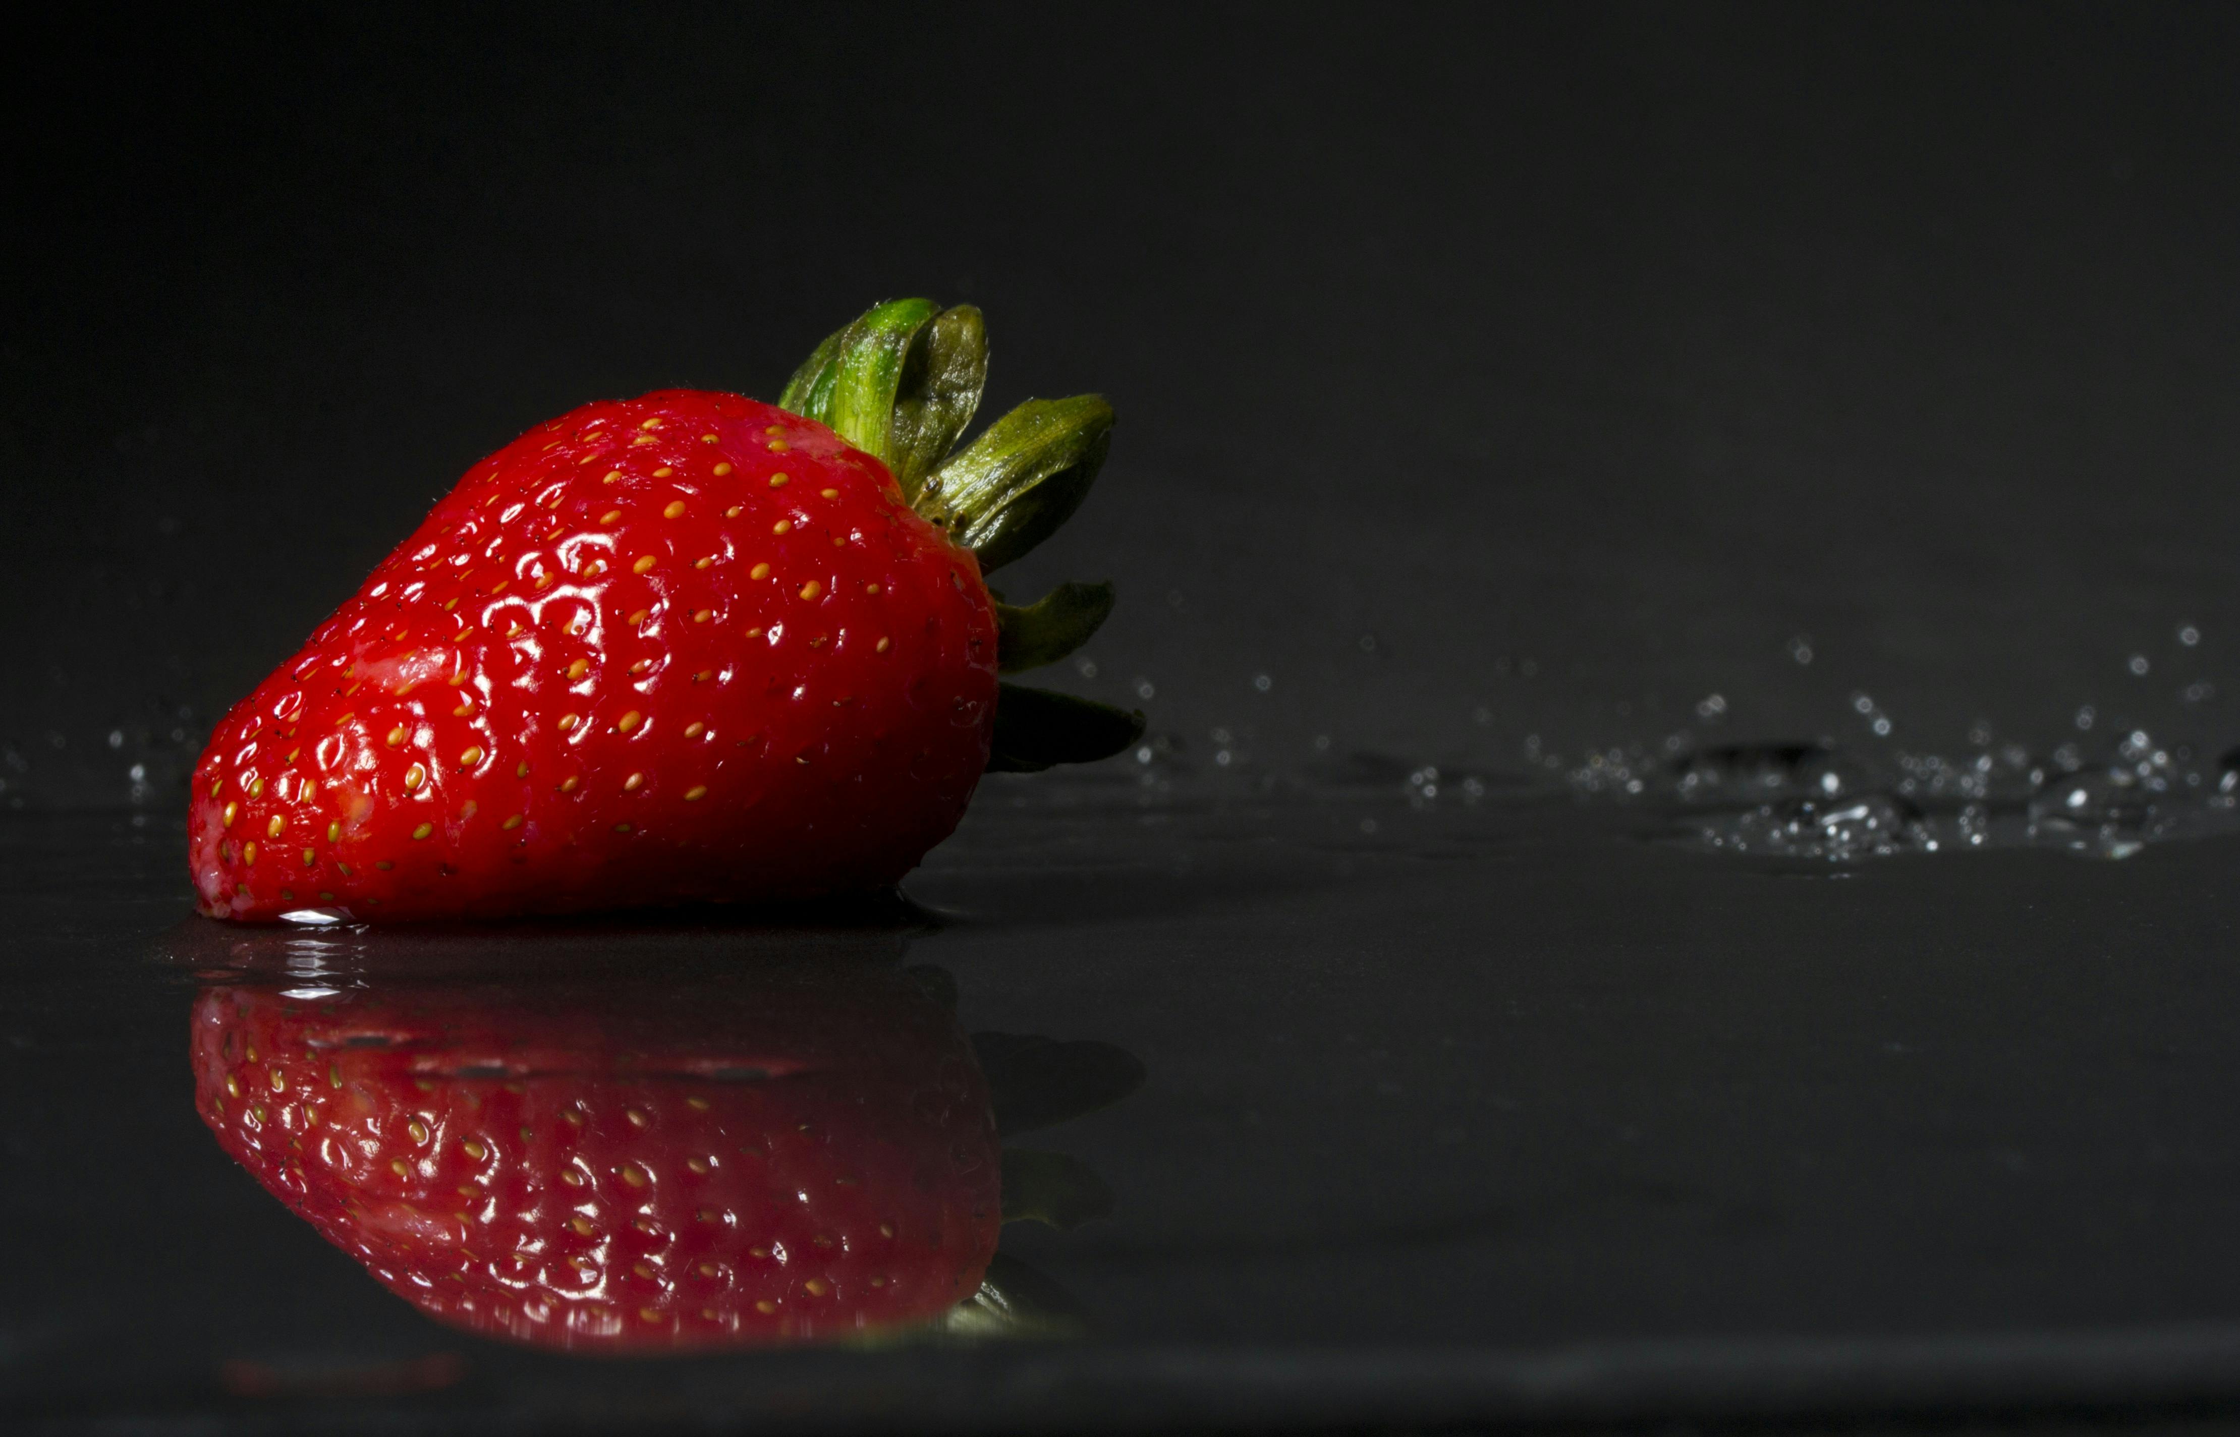
[[[970,551],[822,425],[594,403],[477,463],[220,723],[202,909],[493,918],[896,882],[988,761]]]

